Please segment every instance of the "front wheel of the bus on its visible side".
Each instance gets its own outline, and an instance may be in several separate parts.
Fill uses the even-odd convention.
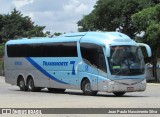
[[[98,91],[92,91],[91,90],[91,83],[89,80],[84,80],[82,82],[82,91],[84,95],[96,95]]]

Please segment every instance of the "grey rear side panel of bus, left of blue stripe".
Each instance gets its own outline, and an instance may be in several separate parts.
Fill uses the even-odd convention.
[[[22,75],[23,78],[31,76],[37,87],[48,87],[49,80],[37,70],[26,58],[7,58],[5,60],[5,79],[7,83],[17,85],[17,78]]]

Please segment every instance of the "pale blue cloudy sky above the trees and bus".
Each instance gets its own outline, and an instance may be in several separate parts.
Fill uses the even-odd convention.
[[[77,22],[89,14],[97,0],[0,0],[0,14],[14,8],[51,33],[77,32]]]

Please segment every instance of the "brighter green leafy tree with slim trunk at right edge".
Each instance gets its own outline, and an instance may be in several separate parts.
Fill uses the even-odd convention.
[[[153,76],[157,81],[157,59],[160,52],[160,4],[143,9],[132,16],[132,22],[138,33],[143,32],[141,41],[148,43],[152,48]]]

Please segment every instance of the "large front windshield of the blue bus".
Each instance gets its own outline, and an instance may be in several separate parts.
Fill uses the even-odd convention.
[[[144,74],[144,57],[138,46],[111,46],[111,56],[108,60],[112,75]]]

